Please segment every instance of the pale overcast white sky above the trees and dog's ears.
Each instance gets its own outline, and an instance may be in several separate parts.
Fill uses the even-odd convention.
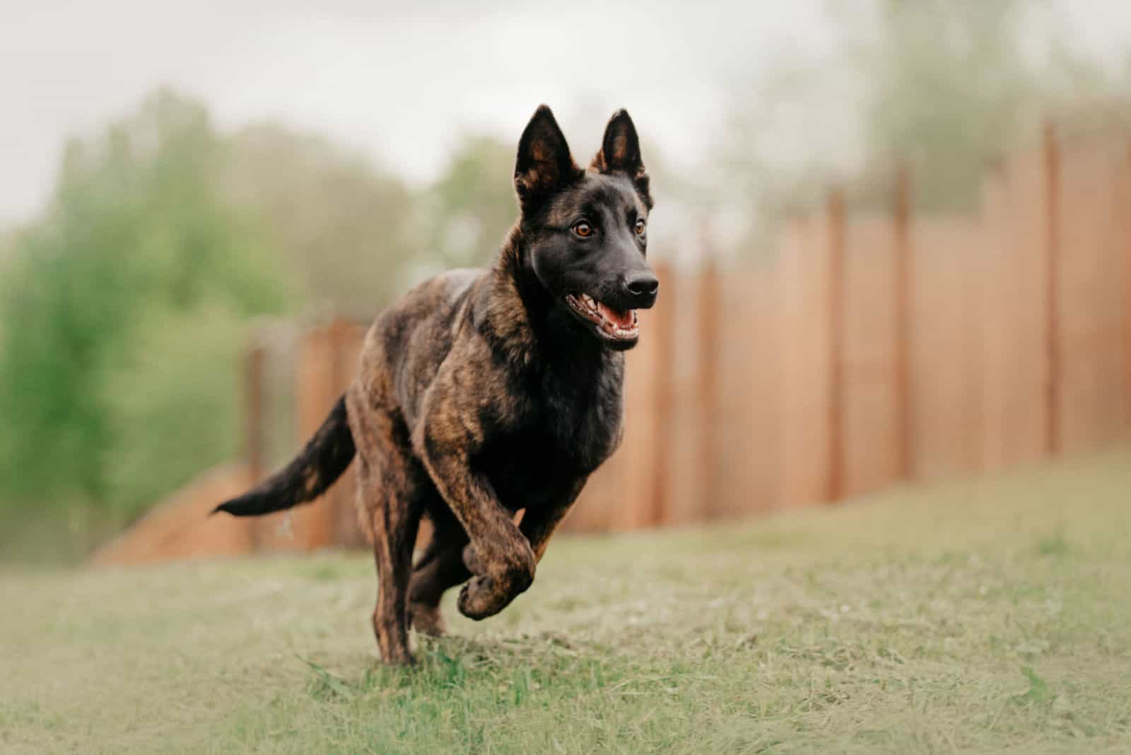
[[[0,227],[42,209],[67,139],[163,85],[202,99],[222,130],[280,121],[414,182],[468,130],[517,141],[542,102],[577,155],[624,106],[646,142],[693,165],[735,88],[829,51],[835,1],[0,0]],[[1131,1],[1059,5],[1099,57],[1131,40]]]

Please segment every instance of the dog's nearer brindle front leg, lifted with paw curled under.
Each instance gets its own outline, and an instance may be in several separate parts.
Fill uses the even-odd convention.
[[[421,457],[437,489],[470,538],[476,574],[459,593],[459,613],[493,616],[530,587],[535,556],[526,536],[499,503],[490,480],[470,467],[474,433],[450,432],[460,423],[428,422]]]

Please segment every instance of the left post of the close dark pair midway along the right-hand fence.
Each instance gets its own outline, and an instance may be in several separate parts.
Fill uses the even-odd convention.
[[[829,252],[829,479],[826,501],[840,500],[844,493],[844,314],[845,314],[845,196],[836,186],[826,202]]]

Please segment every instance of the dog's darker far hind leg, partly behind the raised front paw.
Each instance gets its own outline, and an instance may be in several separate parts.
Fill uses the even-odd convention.
[[[472,576],[463,557],[467,541],[467,533],[455,517],[449,512],[433,514],[432,539],[416,562],[408,583],[408,615],[417,632],[432,636],[443,634],[440,599],[449,588]]]

